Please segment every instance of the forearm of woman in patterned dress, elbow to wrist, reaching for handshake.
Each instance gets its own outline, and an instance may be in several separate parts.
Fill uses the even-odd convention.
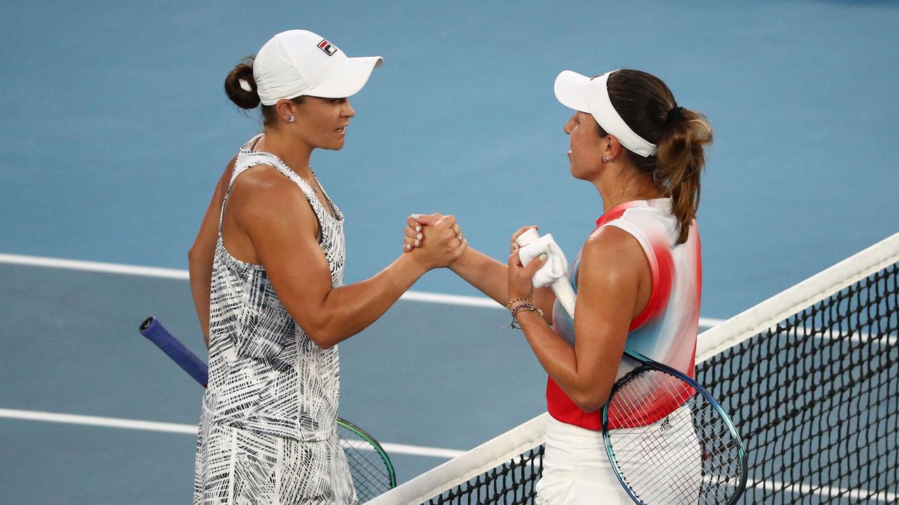
[[[327,349],[361,332],[384,315],[427,270],[407,253],[370,279],[331,289],[317,310],[310,337]]]

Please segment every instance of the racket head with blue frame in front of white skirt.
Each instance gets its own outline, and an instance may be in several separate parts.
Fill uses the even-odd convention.
[[[735,503],[747,468],[734,423],[696,381],[654,365],[619,379],[602,409],[602,436],[621,485],[647,505]]]

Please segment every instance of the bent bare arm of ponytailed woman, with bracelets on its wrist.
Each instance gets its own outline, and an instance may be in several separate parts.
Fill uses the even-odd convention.
[[[525,290],[524,281],[536,269],[530,264],[521,268],[518,254],[510,256],[509,266],[510,292]],[[610,227],[583,247],[574,348],[536,313],[518,313],[540,365],[584,411],[600,409],[609,397],[630,321],[648,302],[648,292],[640,289],[640,283],[650,278],[640,245],[627,232]]]

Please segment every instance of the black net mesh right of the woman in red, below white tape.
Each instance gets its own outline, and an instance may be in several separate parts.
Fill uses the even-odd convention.
[[[896,502],[899,264],[698,367],[749,448],[744,503]]]

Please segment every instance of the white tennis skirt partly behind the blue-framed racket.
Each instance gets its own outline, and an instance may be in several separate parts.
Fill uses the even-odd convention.
[[[640,428],[625,430],[651,430],[659,433],[671,430],[693,430],[690,425],[690,412],[681,407],[662,421]],[[673,427],[660,427],[667,420]],[[660,434],[659,436],[664,436]],[[695,439],[695,438],[694,438]],[[695,447],[696,457],[689,462],[680,462],[689,468],[674,469],[666,465],[654,472],[687,472],[697,476],[696,496],[699,499],[699,474],[701,468],[699,444]],[[635,461],[647,457],[641,452],[628,454],[616,451],[619,461]],[[656,455],[658,456],[658,455]],[[656,459],[658,461],[658,459]],[[648,461],[646,461],[648,464]],[[694,503],[696,501],[693,501]],[[628,492],[619,482],[612,469],[606,445],[601,431],[585,430],[578,426],[556,421],[552,417],[547,421],[547,446],[543,456],[543,475],[537,483],[537,505],[633,505]]]

